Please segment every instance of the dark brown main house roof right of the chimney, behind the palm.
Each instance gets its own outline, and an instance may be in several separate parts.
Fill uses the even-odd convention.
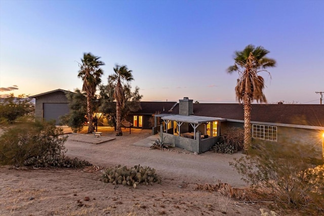
[[[244,120],[240,103],[194,103],[193,114]],[[252,104],[251,121],[324,127],[324,105]]]

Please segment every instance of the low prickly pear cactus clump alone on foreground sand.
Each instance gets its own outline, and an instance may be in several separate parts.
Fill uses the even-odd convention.
[[[160,183],[160,178],[155,173],[155,169],[146,166],[142,167],[140,165],[136,165],[129,169],[121,165],[115,166],[114,168],[107,168],[103,171],[101,179],[105,183],[128,185],[134,188],[139,184],[152,185],[153,183]]]

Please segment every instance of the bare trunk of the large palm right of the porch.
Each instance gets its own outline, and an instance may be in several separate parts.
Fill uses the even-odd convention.
[[[244,95],[244,151],[248,152],[252,145],[251,134],[251,110],[252,104],[248,94]]]

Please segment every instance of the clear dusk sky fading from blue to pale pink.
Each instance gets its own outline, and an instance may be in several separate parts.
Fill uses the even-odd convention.
[[[235,103],[234,52],[267,49],[268,103],[319,104],[324,1],[0,0],[0,95],[82,89],[84,53],[133,72],[142,101]],[[323,98],[324,99],[324,98]],[[324,101],[324,100],[323,100]]]

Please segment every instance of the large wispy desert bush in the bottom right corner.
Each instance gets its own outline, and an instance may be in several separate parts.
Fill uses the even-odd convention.
[[[277,203],[289,207],[324,212],[323,161],[318,150],[291,143],[254,143],[248,155],[231,166],[252,188],[259,188]]]

